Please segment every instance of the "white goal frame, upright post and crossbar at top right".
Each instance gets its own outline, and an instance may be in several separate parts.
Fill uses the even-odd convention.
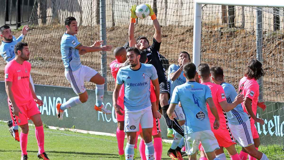
[[[198,66],[201,57],[201,18],[202,4],[208,5],[233,5],[248,7],[284,7],[279,0],[195,0],[194,4],[194,26],[193,26],[193,63]]]

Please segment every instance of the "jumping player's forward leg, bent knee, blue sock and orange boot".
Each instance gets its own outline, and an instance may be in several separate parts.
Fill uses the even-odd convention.
[[[96,84],[96,104],[94,109],[97,111],[101,111],[105,114],[110,114],[111,111],[107,110],[102,104],[104,97],[105,78],[101,76],[99,73],[97,73],[90,79],[90,82]]]

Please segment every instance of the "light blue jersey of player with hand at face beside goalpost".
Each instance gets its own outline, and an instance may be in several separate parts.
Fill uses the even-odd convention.
[[[178,69],[179,69],[179,65],[175,65],[175,64],[170,65],[170,67],[168,69],[168,82],[170,84],[170,99],[169,99],[169,102],[171,102],[172,94],[173,94],[175,87],[178,86],[178,85],[182,85],[183,83],[186,82],[186,79],[183,76],[183,71],[181,71],[181,74],[179,75],[179,77],[175,81],[172,81],[170,79],[170,74],[175,73]]]

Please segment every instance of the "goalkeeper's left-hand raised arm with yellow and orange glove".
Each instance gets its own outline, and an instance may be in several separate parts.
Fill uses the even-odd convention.
[[[131,6],[131,17],[130,17],[130,24],[129,24],[129,28],[128,28],[128,42],[129,42],[129,47],[133,47],[135,46],[135,44],[137,43],[134,37],[134,23],[136,22],[136,5]]]

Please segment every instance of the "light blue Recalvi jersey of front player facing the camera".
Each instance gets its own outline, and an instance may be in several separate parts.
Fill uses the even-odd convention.
[[[118,70],[116,83],[124,84],[125,110],[134,111],[151,106],[150,81],[158,78],[155,67],[141,63],[141,67],[132,70],[130,65]]]

